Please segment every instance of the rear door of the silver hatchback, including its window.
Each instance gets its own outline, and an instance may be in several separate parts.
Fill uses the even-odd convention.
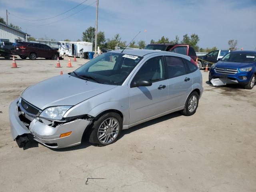
[[[168,108],[184,106],[188,94],[192,91],[193,76],[186,71],[182,58],[165,56],[168,71]],[[196,67],[196,66],[195,66]]]

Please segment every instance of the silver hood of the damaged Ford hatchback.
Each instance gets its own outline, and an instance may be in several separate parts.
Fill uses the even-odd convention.
[[[43,110],[50,106],[74,106],[114,87],[116,86],[90,82],[64,74],[28,87],[21,97]]]

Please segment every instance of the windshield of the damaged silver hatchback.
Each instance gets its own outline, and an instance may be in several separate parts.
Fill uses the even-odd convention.
[[[90,60],[70,75],[101,84],[122,85],[142,57],[107,52]]]

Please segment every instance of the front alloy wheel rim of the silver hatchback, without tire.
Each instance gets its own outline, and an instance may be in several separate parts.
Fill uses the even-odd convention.
[[[100,124],[98,129],[98,140],[102,144],[110,144],[118,136],[119,129],[119,122],[116,118],[107,118]]]

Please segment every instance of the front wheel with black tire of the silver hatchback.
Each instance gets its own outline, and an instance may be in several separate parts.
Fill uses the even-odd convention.
[[[111,127],[108,127],[111,124],[110,120],[114,120],[112,126],[116,126],[115,130],[113,131],[111,131]],[[92,125],[89,142],[92,144],[97,144],[98,146],[106,146],[112,144],[116,142],[116,140],[120,136],[122,127],[122,118],[119,114],[114,112],[104,114],[100,116],[100,118],[98,118]]]

